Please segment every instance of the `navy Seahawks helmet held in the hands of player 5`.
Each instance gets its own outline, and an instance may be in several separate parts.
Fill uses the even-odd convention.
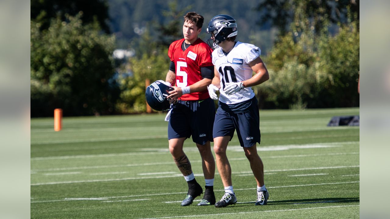
[[[146,88],[145,98],[147,104],[157,111],[169,109],[170,103],[167,99],[168,91],[174,90],[172,87],[165,85],[163,80],[154,81]]]

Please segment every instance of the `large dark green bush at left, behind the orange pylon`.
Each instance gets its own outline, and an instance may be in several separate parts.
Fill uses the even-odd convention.
[[[31,116],[92,115],[113,112],[116,85],[112,51],[115,37],[97,22],[84,25],[82,13],[52,19],[47,30],[31,21]]]

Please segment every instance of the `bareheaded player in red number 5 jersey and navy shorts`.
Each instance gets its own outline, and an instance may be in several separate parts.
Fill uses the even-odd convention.
[[[198,37],[203,21],[200,14],[188,12],[184,16],[184,39],[172,42],[168,49],[171,63],[165,83],[174,90],[167,97],[173,104],[166,120],[169,151],[188,183],[188,193],[182,206],[191,205],[203,193],[183,151],[184,140],[190,136],[200,152],[206,182],[203,199],[198,205],[215,204],[215,161],[210,147],[210,141],[213,141],[215,105],[207,91],[207,86],[214,77],[214,67],[211,60],[212,49]]]

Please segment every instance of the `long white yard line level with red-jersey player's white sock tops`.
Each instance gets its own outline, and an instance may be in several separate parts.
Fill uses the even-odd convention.
[[[283,169],[283,170],[265,170],[264,172],[280,172],[280,171],[296,171],[296,170],[323,170],[323,169],[335,169],[335,168],[355,168],[359,165],[354,166],[325,166],[325,167],[310,167],[310,168],[295,168],[295,169]],[[245,173],[245,172],[239,172]],[[84,183],[84,182],[110,182],[110,181],[121,181],[121,180],[139,180],[139,179],[150,179],[150,178],[170,178],[170,177],[183,177],[181,174],[169,175],[169,176],[151,176],[151,177],[128,177],[128,178],[115,178],[115,179],[96,179],[96,180],[76,180],[76,181],[62,181],[62,182],[41,182],[32,183],[30,185],[54,185],[54,184],[69,184],[69,183]]]

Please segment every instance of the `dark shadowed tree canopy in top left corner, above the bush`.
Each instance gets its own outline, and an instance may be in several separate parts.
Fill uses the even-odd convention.
[[[100,27],[109,33],[108,22],[108,2],[107,0],[31,0],[30,18],[37,23],[41,23],[41,30],[50,26],[50,19],[59,17],[65,21],[66,14],[75,16],[80,11],[83,12],[83,23],[92,23],[96,20]]]

